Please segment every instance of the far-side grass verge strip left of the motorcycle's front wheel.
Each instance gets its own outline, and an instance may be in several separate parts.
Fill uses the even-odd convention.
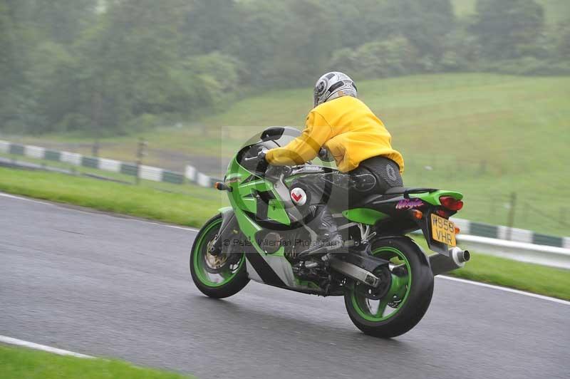
[[[190,227],[200,227],[227,204],[221,192],[192,185],[185,189],[184,194],[169,193],[145,185],[0,168],[0,191]]]

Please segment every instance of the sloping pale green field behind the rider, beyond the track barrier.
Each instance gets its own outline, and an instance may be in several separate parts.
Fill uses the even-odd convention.
[[[570,77],[445,74],[360,81],[358,88],[403,152],[405,185],[459,190],[465,194],[459,217],[490,224],[507,223],[508,199],[516,192],[515,227],[570,235],[564,200]],[[217,172],[206,170],[220,175],[247,137],[267,125],[301,125],[310,108],[310,88],[244,98],[194,126],[143,133],[150,142],[145,163],[167,167],[163,150],[197,156],[192,163],[198,167],[222,157],[214,163]],[[133,160],[137,137],[105,138],[100,154]],[[46,135],[22,141],[88,144],[92,139]],[[88,145],[77,150],[90,153]]]

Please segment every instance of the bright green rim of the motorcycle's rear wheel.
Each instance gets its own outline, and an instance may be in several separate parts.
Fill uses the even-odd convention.
[[[402,251],[395,249],[393,247],[380,247],[375,249],[372,254],[378,256],[378,258],[387,259],[394,261],[398,259],[398,264],[405,264],[408,271],[408,275],[396,276],[392,274],[392,284],[383,298],[377,301],[371,301],[366,298],[363,294],[358,294],[354,289],[351,294],[351,300],[353,308],[356,310],[359,316],[367,321],[380,322],[388,320],[395,316],[398,311],[403,307],[406,300],[408,300],[408,295],[410,294],[410,289],[412,288],[412,271],[410,267],[410,262],[405,257]],[[395,263],[395,262],[394,262]],[[396,298],[394,298],[394,296]],[[400,301],[396,308],[388,306],[388,303],[394,300]],[[387,312],[389,311],[389,312]]]

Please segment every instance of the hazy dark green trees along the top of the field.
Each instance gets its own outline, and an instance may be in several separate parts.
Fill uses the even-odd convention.
[[[0,0],[0,130],[116,135],[254,90],[413,73],[570,73],[534,0]]]

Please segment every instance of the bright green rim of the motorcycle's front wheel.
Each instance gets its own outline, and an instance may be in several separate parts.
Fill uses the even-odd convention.
[[[228,266],[224,271],[220,272],[219,274],[211,274],[204,268],[206,264],[204,261],[204,255],[206,254],[206,249],[208,242],[214,237],[216,228],[219,228],[222,224],[222,219],[217,219],[211,224],[207,225],[206,229],[195,244],[195,248],[192,251],[192,260],[194,263],[194,271],[195,274],[200,281],[200,283],[204,284],[204,286],[209,287],[219,287],[223,286],[224,284],[229,283],[232,281],[234,277],[237,275],[240,269],[242,269],[242,265],[244,264],[245,256],[242,256],[239,259],[239,262],[234,265]],[[234,267],[232,269],[232,266]]]

